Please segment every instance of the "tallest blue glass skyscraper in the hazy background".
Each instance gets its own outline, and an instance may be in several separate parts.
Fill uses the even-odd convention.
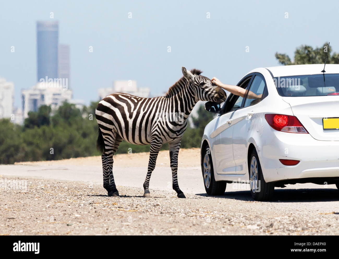
[[[37,65],[38,78],[58,78],[58,40],[57,21],[37,22]]]

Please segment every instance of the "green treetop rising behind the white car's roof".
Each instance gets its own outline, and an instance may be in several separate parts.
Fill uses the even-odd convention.
[[[328,42],[324,43],[322,47],[316,47],[314,49],[308,45],[301,45],[297,47],[294,52],[294,61],[291,61],[291,58],[288,55],[278,52],[275,53],[275,57],[282,65],[322,64],[325,62],[327,45]],[[327,51],[326,64],[339,64],[339,54],[336,52],[331,54],[331,45],[328,47]]]

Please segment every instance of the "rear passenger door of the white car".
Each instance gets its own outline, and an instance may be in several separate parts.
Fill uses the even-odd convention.
[[[233,156],[236,164],[236,174],[246,173],[247,143],[256,119],[256,108],[267,96],[264,77],[255,73],[242,107],[233,114]]]

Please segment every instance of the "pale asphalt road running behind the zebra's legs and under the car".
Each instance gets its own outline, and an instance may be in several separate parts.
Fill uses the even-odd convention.
[[[37,162],[39,163],[39,162]],[[142,191],[142,184],[145,180],[147,168],[143,165],[139,167],[132,164],[132,166],[128,166],[128,163],[123,166],[114,164],[114,179],[118,186],[126,186],[126,187],[139,187]],[[54,179],[61,181],[81,181],[85,184],[102,184],[102,167],[101,164],[96,165],[69,165],[62,163],[52,164],[52,165],[44,165],[44,164],[16,164],[16,165],[0,165],[0,175],[3,177],[24,177],[29,179]],[[179,166],[178,169],[178,181],[181,190],[184,193],[205,193],[204,184],[201,175],[200,166]],[[327,190],[337,190],[336,186],[333,185],[318,185],[312,183],[306,184],[294,184],[294,185],[286,185],[286,188],[275,188],[276,193],[283,193],[284,197],[290,197],[293,201],[294,193],[300,192],[300,189],[310,190],[311,193],[308,195],[312,200],[314,195],[312,192],[324,191],[326,193]],[[166,190],[172,191],[172,173],[171,168],[167,164],[156,166],[155,170],[152,173],[150,188],[158,189],[158,190]],[[250,196],[249,185],[246,185],[247,189],[243,189],[243,186],[237,184],[227,184],[226,192],[232,192],[236,194],[239,192],[239,197],[242,197],[244,193]],[[248,193],[247,193],[248,192]],[[301,193],[306,193],[302,191]],[[332,193],[331,191],[328,192]],[[105,190],[103,189],[103,194],[105,194]],[[276,195],[277,196],[277,195]],[[303,197],[307,197],[304,195]],[[299,197],[299,196],[298,196]],[[322,195],[323,197],[323,195]],[[324,196],[324,198],[326,195]],[[330,198],[329,195],[328,198]],[[275,197],[276,199],[286,199],[280,196]],[[297,197],[295,197],[297,198]],[[334,198],[334,197],[333,197]],[[319,199],[319,198],[318,198]],[[295,199],[297,201],[297,199]],[[339,201],[339,196],[338,196]]]

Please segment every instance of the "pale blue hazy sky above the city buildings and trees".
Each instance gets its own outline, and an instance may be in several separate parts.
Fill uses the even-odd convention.
[[[254,68],[278,66],[276,52],[293,59],[301,44],[330,41],[339,52],[338,7],[338,1],[296,0],[0,0],[0,77],[14,82],[21,107],[21,89],[36,84],[36,21],[51,20],[53,12],[59,44],[71,48],[73,97],[86,105],[114,80],[137,80],[161,95],[182,66],[237,84]]]

